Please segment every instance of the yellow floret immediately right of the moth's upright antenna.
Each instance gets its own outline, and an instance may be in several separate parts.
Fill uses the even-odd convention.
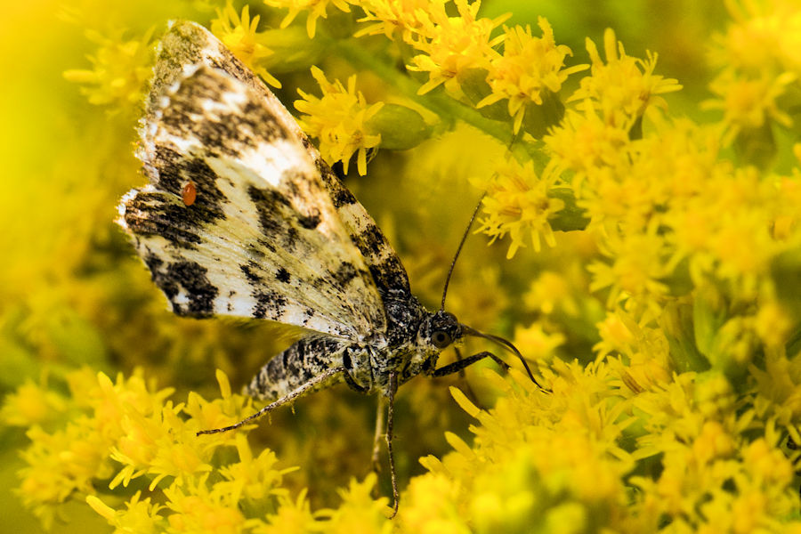
[[[554,247],[554,231],[548,218],[564,207],[561,199],[549,196],[556,182],[553,173],[537,176],[531,162],[508,163],[487,187],[483,201],[485,217],[477,231],[489,235],[490,243],[509,234],[512,243],[507,258],[514,257],[528,239],[536,251],[540,249],[540,239]]]

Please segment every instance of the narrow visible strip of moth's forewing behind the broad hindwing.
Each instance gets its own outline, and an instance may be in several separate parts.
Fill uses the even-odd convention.
[[[174,22],[162,40],[162,50],[167,53],[161,54],[162,58],[156,69],[156,85],[174,83],[175,73],[180,72],[182,64],[193,58],[193,61],[223,69],[260,94],[264,101],[269,102],[274,110],[274,119],[298,142],[303,143],[314,165],[320,171],[322,182],[328,190],[328,196],[339,214],[339,219],[351,235],[352,242],[359,248],[379,291],[383,295],[410,294],[406,271],[373,218],[323,161],[320,152],[309,142],[287,109],[253,72],[246,69],[206,28],[194,22]]]

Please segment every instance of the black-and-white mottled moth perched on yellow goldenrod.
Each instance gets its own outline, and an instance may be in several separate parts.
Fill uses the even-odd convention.
[[[247,394],[270,404],[198,434],[238,428],[337,383],[377,394],[376,428],[385,411],[397,512],[392,407],[399,385],[488,357],[507,367],[479,352],[438,368],[440,353],[465,336],[514,352],[534,380],[514,345],[446,312],[445,291],[440,310],[419,303],[372,217],[261,79],[206,28],[175,21],[166,31],[140,134],[137,157],[149,183],[122,198],[117,223],[173,312],[272,320],[307,332],[247,385]],[[376,441],[374,462],[377,451]]]

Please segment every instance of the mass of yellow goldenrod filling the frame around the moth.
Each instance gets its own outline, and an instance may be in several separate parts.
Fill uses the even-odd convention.
[[[614,30],[512,0],[139,0],[103,21],[84,4],[30,18],[53,40],[30,87],[58,91],[0,88],[38,143],[4,158],[0,196],[0,419],[20,458],[0,502],[36,517],[20,530],[801,533],[796,2],[633,1],[592,18]],[[300,95],[425,303],[484,194],[449,309],[511,336],[544,387],[511,359],[468,369],[470,387],[405,385],[394,520],[370,400],[320,392],[195,435],[257,409],[227,376],[291,339],[175,319],[111,226],[142,181],[135,119],[176,15]]]

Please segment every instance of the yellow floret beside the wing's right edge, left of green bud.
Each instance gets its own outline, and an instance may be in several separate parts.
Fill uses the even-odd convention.
[[[320,140],[320,155],[328,165],[341,161],[347,174],[351,157],[356,153],[359,174],[367,174],[368,150],[381,142],[381,135],[374,134],[368,123],[383,103],[368,106],[364,95],[356,91],[355,76],[348,78],[347,89],[338,80],[329,82],[317,67],[312,67],[312,76],[323,95],[318,98],[298,89],[303,97],[295,101],[295,108],[303,113],[298,123],[306,134]]]

